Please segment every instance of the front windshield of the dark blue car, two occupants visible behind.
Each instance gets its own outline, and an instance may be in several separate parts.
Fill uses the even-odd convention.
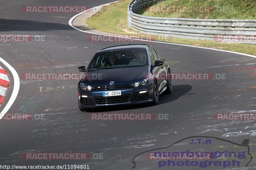
[[[148,64],[145,49],[119,50],[97,53],[89,69],[111,69],[120,67],[138,67]]]

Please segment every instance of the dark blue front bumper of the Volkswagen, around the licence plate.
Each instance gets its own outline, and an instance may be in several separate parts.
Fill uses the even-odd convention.
[[[103,97],[102,92],[121,90],[121,96]],[[145,93],[139,93],[146,91]],[[83,96],[83,97],[82,97]],[[87,96],[87,97],[85,97]],[[149,82],[148,85],[141,87],[125,87],[115,89],[101,89],[87,92],[78,89],[78,104],[82,108],[95,108],[105,106],[118,105],[133,105],[153,101],[153,85]]]

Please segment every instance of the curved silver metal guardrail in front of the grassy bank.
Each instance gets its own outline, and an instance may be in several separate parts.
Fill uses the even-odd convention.
[[[129,28],[149,35],[256,44],[256,19],[161,18],[135,13],[158,1],[160,0],[132,0],[128,5]]]

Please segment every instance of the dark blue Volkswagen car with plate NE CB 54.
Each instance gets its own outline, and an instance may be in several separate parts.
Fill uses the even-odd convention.
[[[78,106],[89,108],[158,103],[162,92],[172,92],[169,64],[146,44],[100,49],[78,83]]]

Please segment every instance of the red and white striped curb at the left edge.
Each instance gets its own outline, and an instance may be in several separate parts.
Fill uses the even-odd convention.
[[[0,66],[0,105],[4,101],[5,92],[9,86],[9,79],[8,75],[6,74],[5,70]]]

